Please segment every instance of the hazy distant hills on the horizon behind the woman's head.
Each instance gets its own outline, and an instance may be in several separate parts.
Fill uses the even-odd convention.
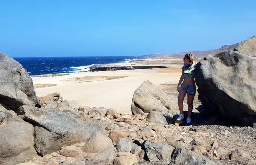
[[[194,55],[196,58],[200,57],[205,57],[208,54],[216,54],[220,53],[226,50],[233,50],[238,44],[233,44],[233,45],[224,45],[220,47],[219,49],[214,49],[214,50],[203,50],[203,51],[193,51]],[[179,52],[179,53],[167,53],[167,54],[148,54],[148,55],[143,55],[142,57],[183,57],[186,53],[189,52]]]

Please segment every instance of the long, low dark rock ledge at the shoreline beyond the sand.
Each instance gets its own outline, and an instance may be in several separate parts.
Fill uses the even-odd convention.
[[[167,68],[167,66],[91,66],[89,71]]]

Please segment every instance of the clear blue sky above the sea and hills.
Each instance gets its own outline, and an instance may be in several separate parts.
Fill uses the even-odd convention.
[[[255,0],[1,0],[0,52],[125,56],[216,49],[256,35]]]

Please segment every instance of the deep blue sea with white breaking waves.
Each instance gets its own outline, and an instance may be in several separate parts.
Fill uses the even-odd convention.
[[[109,57],[21,57],[14,58],[28,71],[29,75],[88,72],[96,64],[129,62],[140,56]]]

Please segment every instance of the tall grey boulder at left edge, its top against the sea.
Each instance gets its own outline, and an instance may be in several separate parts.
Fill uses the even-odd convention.
[[[41,107],[28,72],[3,53],[0,53],[0,100],[14,111],[22,105]]]

